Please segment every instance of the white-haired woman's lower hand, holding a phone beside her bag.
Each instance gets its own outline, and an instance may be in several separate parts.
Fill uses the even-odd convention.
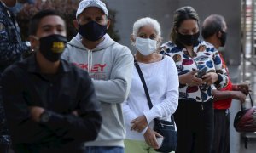
[[[160,135],[160,133],[156,133],[154,130],[148,127],[143,136],[148,145],[152,146],[154,149],[159,149],[160,146],[157,143],[156,137],[163,137]]]

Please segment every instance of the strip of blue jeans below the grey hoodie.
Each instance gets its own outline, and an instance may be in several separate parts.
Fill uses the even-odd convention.
[[[118,146],[87,146],[86,153],[124,153],[123,147]],[[84,152],[84,153],[85,153]]]

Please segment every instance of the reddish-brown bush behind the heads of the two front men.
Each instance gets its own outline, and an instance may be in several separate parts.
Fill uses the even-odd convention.
[[[73,20],[75,19],[75,14],[79,6],[78,0],[36,0],[34,4],[25,3],[23,8],[17,14],[17,21],[20,26],[21,37],[25,40],[28,38],[28,28],[29,20],[32,16],[38,13],[42,9],[55,9],[67,24],[67,39],[71,40],[76,34],[77,31],[73,27]],[[119,41],[118,31],[114,30],[115,23],[115,14],[113,10],[109,10],[109,17],[111,20],[111,25],[108,28],[108,34],[115,41]]]

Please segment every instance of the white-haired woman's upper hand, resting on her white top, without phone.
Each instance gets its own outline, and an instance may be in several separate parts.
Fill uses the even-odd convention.
[[[148,121],[146,116],[138,116],[136,119],[131,121],[131,131],[137,131],[138,133],[141,133],[143,129],[145,129],[148,126]]]

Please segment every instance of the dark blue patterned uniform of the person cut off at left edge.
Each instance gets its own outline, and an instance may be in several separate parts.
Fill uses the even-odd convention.
[[[29,47],[26,46],[26,43],[21,41],[20,28],[15,16],[0,1],[0,75],[7,66],[20,60],[21,54],[28,49]],[[6,127],[0,87],[0,144],[9,143],[9,131]]]

